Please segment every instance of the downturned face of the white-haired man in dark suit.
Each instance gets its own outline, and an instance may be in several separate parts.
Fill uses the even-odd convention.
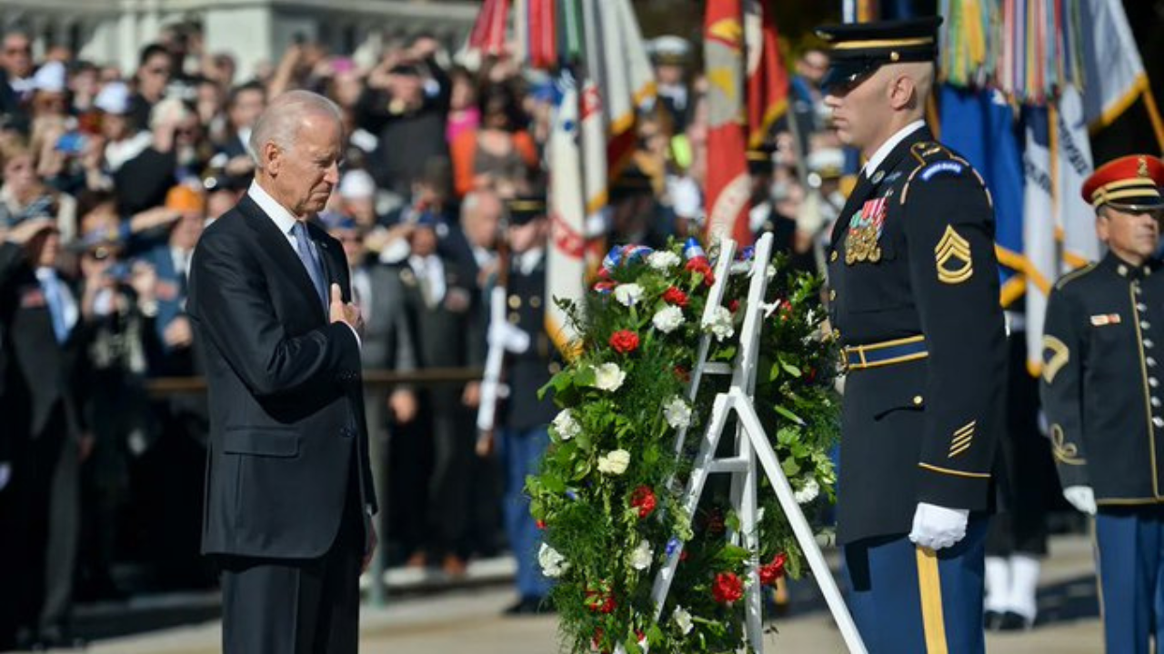
[[[264,152],[276,198],[291,213],[305,216],[327,206],[340,183],[342,138],[340,123],[327,115],[307,114],[299,121],[288,149],[270,143]]]

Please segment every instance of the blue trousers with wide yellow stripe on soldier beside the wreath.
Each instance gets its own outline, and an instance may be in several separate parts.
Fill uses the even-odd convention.
[[[988,520],[936,553],[909,536],[845,545],[849,610],[870,654],[974,654],[986,649],[982,585]]]

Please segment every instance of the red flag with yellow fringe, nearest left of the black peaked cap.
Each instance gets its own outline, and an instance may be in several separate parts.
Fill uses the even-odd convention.
[[[780,59],[774,12],[761,0],[746,1],[747,144],[757,148],[788,108],[788,71]]]

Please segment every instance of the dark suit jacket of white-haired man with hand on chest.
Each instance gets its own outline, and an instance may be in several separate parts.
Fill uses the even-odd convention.
[[[308,233],[349,301],[342,247]],[[186,311],[210,389],[203,552],[321,556],[349,483],[376,505],[355,334],[327,321],[294,249],[249,197],[203,234]]]

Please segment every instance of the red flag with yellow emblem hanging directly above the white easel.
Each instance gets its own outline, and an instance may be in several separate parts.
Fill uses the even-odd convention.
[[[703,58],[708,78],[708,237],[752,242],[752,193],[744,143],[744,62],[740,0],[708,0]]]

